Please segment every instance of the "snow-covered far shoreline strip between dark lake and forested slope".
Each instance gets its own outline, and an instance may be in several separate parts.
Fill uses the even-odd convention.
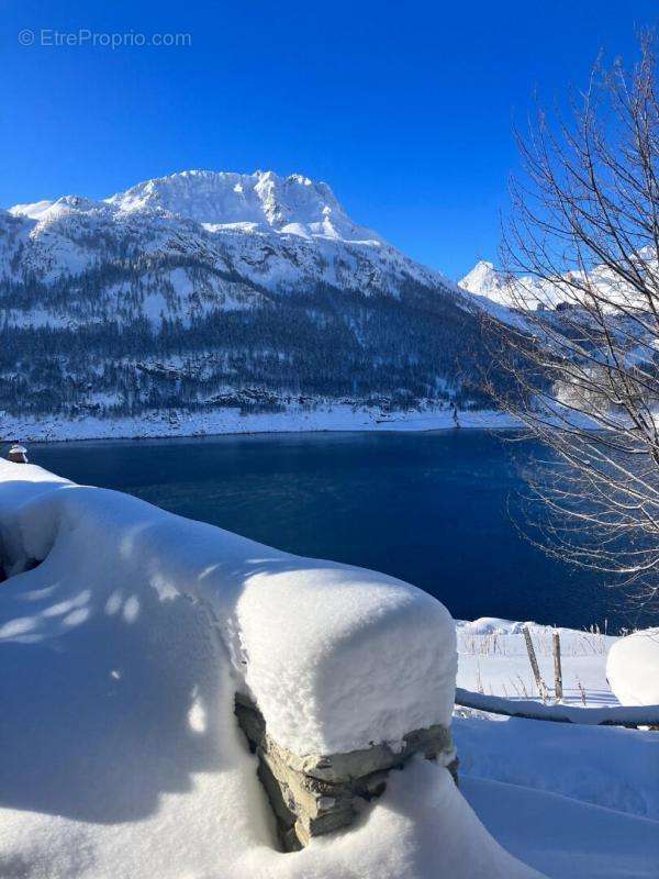
[[[85,416],[38,419],[0,415],[0,439],[67,442],[79,439],[158,439],[176,436],[321,432],[422,432],[467,430],[515,430],[518,424],[495,410],[458,411],[426,409],[383,414],[379,409],[327,405],[311,411],[289,409],[277,413],[241,415],[237,409],[209,413],[161,412],[122,419]]]

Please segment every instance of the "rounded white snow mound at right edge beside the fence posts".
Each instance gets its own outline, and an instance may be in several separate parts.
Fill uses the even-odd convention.
[[[659,705],[659,627],[616,641],[606,677],[623,705]]]

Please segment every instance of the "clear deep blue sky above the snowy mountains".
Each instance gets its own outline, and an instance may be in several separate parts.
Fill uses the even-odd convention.
[[[657,0],[1,9],[1,205],[101,198],[186,168],[300,171],[454,278],[495,257],[516,163],[511,122],[524,121],[534,90],[560,100],[600,47],[633,57],[635,29],[659,13]],[[19,45],[24,29],[31,46]],[[191,45],[41,44],[80,29],[188,33]]]

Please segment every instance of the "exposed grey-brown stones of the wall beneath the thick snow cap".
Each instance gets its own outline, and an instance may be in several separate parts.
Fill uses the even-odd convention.
[[[247,697],[236,694],[235,713],[258,756],[258,776],[286,852],[308,845],[313,836],[351,824],[357,800],[380,797],[389,771],[402,768],[416,754],[440,760],[457,783],[458,759],[446,726],[415,730],[403,737],[398,750],[378,744],[345,754],[300,757],[268,735],[263,714]]]

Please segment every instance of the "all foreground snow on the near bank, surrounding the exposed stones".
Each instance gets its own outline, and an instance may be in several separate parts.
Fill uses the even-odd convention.
[[[659,876],[656,733],[463,710],[460,791],[417,759],[350,830],[276,850],[234,692],[298,753],[393,744],[450,714],[444,608],[31,465],[0,461],[0,876]],[[548,630],[532,632],[550,682]],[[612,639],[561,639],[568,699],[573,677],[614,703]],[[458,624],[457,659],[461,687],[533,696],[520,624]]]

